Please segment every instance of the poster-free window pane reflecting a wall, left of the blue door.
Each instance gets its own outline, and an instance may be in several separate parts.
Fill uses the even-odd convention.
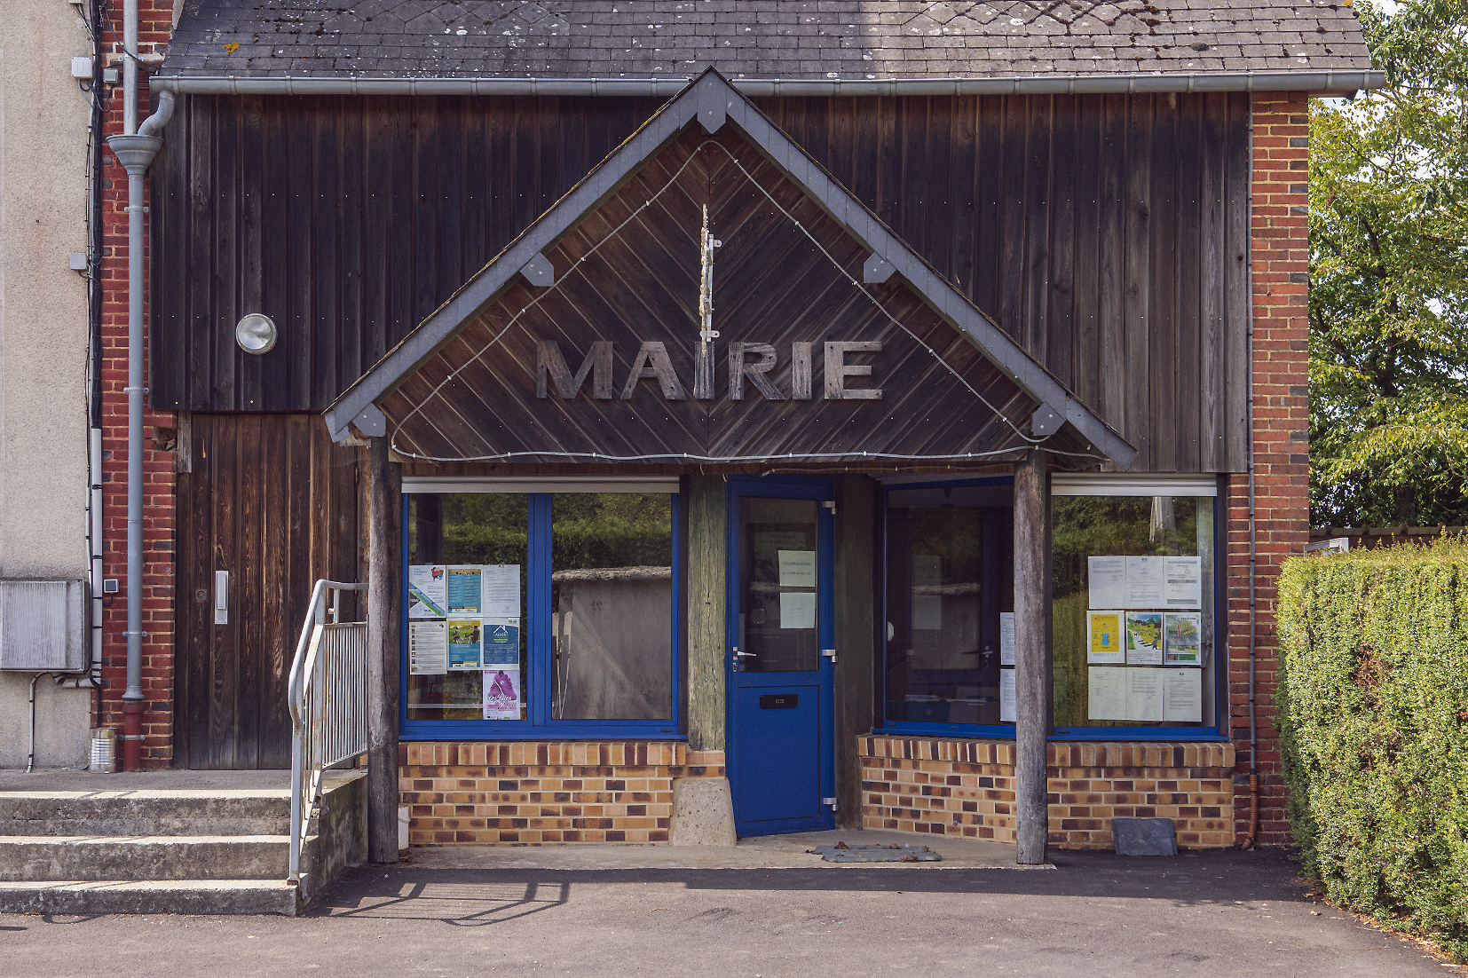
[[[672,496],[550,502],[552,717],[672,717]]]

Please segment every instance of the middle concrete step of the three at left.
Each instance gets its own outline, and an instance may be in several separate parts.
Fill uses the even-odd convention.
[[[289,836],[3,836],[0,881],[282,881],[289,852]]]

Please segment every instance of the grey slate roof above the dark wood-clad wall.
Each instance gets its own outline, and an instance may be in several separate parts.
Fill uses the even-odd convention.
[[[1279,0],[186,0],[161,75],[923,79],[1368,70]]]

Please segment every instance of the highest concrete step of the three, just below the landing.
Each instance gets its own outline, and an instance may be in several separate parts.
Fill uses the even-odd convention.
[[[286,789],[0,792],[0,836],[285,836]]]

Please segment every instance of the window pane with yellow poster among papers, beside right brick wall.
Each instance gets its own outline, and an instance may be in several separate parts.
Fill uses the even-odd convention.
[[[1211,496],[1054,496],[1057,727],[1213,727]]]

